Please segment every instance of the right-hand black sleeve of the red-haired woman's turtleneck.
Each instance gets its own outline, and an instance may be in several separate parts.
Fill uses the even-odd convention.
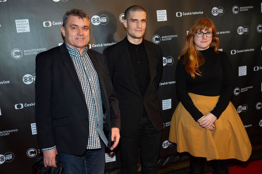
[[[220,117],[222,112],[227,108],[228,103],[232,96],[233,91],[233,72],[231,63],[226,53],[223,52],[223,57],[221,61],[223,69],[223,80],[222,80],[222,90],[216,107],[211,111],[211,113],[217,117]]]

